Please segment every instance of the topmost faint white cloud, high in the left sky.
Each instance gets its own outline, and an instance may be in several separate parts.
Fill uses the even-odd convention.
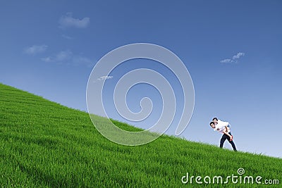
[[[77,28],[86,28],[90,23],[90,18],[85,17],[82,19],[73,18],[73,13],[66,13],[62,15],[59,19],[59,27],[77,27]]]

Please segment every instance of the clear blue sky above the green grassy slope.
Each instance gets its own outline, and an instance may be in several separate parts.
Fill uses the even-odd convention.
[[[209,128],[216,116],[231,123],[240,151],[282,157],[281,10],[281,1],[1,1],[0,82],[86,111],[87,80],[102,56],[125,44],[158,44],[185,63],[195,87],[180,137],[219,145]],[[145,60],[121,65],[106,82],[134,68],[165,72],[178,84]],[[142,84],[132,90],[128,106],[138,111],[138,99],[150,96],[154,120],[159,94]]]

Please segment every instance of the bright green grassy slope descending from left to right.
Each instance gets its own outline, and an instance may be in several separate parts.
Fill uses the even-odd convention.
[[[87,113],[0,84],[1,187],[181,187],[186,173],[226,177],[238,175],[238,168],[281,181],[281,166],[278,158],[168,136],[143,146],[114,144],[95,130]]]

